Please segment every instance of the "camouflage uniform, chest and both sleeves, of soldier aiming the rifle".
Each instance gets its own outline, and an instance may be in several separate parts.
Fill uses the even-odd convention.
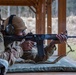
[[[46,61],[49,58],[49,56],[53,54],[55,47],[48,45],[44,48],[44,50],[46,54],[43,61]],[[2,58],[7,60],[9,65],[12,65],[18,58],[37,61],[37,53],[38,51],[36,47],[33,47],[32,50],[23,50],[20,46],[20,42],[13,42],[9,44],[8,47],[5,49],[5,52],[2,54]]]

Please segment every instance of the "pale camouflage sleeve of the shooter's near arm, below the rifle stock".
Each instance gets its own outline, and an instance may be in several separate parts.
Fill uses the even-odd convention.
[[[16,42],[9,44],[5,52],[2,54],[2,58],[7,60],[9,65],[13,65],[17,58],[23,55],[23,50]]]

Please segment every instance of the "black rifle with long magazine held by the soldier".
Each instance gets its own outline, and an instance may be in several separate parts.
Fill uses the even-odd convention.
[[[76,38],[76,36],[67,36],[67,38]],[[14,41],[21,41],[22,39],[31,40],[37,43],[38,49],[38,58],[42,60],[45,56],[43,41],[44,40],[58,40],[56,34],[32,34],[28,33],[25,36],[17,36],[17,35],[10,35],[4,36],[4,43],[5,45],[12,43]]]

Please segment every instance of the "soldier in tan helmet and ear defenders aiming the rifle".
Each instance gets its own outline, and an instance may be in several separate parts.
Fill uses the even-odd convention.
[[[8,17],[5,22],[5,35],[26,35],[26,26],[23,22],[23,20],[16,16],[16,15],[11,15]],[[13,27],[11,27],[13,26]],[[59,39],[58,41],[52,40],[51,43],[45,47],[45,57],[42,61],[46,61],[49,56],[51,56],[55,50],[55,44],[63,43],[66,41],[66,36],[65,35],[56,35],[57,38]],[[12,65],[15,63],[15,60],[17,58],[23,58],[25,60],[33,60],[35,62],[39,62],[39,60],[36,58],[37,56],[37,49],[34,48],[34,42],[33,41],[27,41],[27,40],[22,40],[20,42],[13,42],[11,44],[6,44],[5,45],[5,52],[2,54],[2,58],[7,60],[9,65]]]

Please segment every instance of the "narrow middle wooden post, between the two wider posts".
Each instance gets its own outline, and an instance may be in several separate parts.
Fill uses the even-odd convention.
[[[52,5],[52,0],[47,0],[47,34],[52,33],[52,11],[51,11],[51,6]],[[50,43],[50,40],[47,41],[47,44]]]

